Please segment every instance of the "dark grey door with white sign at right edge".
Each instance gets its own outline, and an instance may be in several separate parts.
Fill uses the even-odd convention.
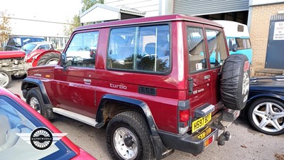
[[[284,69],[284,18],[271,16],[265,68]]]

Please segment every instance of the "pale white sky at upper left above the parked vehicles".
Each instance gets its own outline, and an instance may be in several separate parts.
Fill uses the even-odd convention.
[[[21,36],[63,37],[66,23],[82,8],[81,0],[0,0],[0,4],[0,11],[11,18],[11,34]]]

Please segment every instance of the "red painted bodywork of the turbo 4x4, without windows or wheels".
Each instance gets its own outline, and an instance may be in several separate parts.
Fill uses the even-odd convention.
[[[170,19],[176,20],[176,18],[183,18],[183,16],[163,16],[162,19],[151,17],[143,18],[143,21],[136,18],[127,21],[129,21],[129,24],[132,24],[144,23],[145,21],[163,21],[165,19],[170,21]],[[195,17],[192,18],[192,21],[195,21]],[[202,23],[206,22],[207,20],[204,20]],[[202,23],[198,25],[202,27],[204,25]],[[211,28],[214,27],[212,26],[211,21],[208,21],[208,23],[211,24]],[[126,25],[124,21],[114,21],[109,22],[109,24],[110,26],[116,26],[119,24]],[[192,24],[185,21],[171,22],[171,38],[173,42],[176,42],[171,46],[172,52],[175,53],[172,55],[172,63],[175,63],[175,65],[172,66],[176,66],[178,64],[178,67],[171,68],[169,75],[151,75],[143,73],[132,74],[124,71],[117,72],[113,70],[106,70],[107,43],[102,43],[102,45],[97,47],[96,59],[98,60],[96,61],[95,68],[69,67],[68,70],[63,70],[60,65],[55,65],[55,67],[52,68],[31,68],[28,70],[28,75],[40,73],[42,74],[41,77],[44,77],[45,73],[52,74],[49,78],[50,81],[45,79],[44,84],[48,97],[55,107],[61,107],[65,110],[70,110],[72,112],[83,114],[87,117],[95,118],[97,114],[97,107],[99,106],[99,102],[101,102],[103,95],[109,93],[131,97],[133,99],[146,102],[151,109],[153,117],[159,117],[155,119],[155,124],[159,129],[167,132],[178,133],[178,119],[176,115],[178,114],[177,106],[179,100],[189,99],[191,106],[195,107],[199,107],[205,102],[217,106],[217,102],[219,102],[219,96],[212,96],[212,94],[216,94],[218,92],[217,86],[214,85],[214,81],[217,79],[219,69],[189,75],[189,69],[185,67],[188,66],[188,64],[186,64],[188,63],[187,54],[178,54],[188,52],[187,48],[184,47],[187,46],[185,45],[187,43],[187,37],[182,36],[182,33],[185,33],[183,30],[187,25]],[[197,25],[197,23],[194,23],[194,25]],[[101,26],[101,24],[96,24],[96,27],[99,28],[99,26]],[[216,26],[219,26],[219,24],[216,23]],[[80,30],[84,28],[86,27],[82,26],[77,28],[78,33],[82,32]],[[98,29],[94,29],[94,31],[98,31]],[[101,28],[99,31],[101,35],[99,36],[99,41],[107,41],[107,38],[109,37],[109,28]],[[74,35],[75,34],[72,36]],[[70,39],[72,39],[72,37]],[[70,41],[67,43],[67,46],[69,43]],[[66,48],[63,52],[65,51]],[[180,68],[184,69],[180,70]],[[145,79],[141,79],[142,75]],[[209,75],[210,78],[204,80],[204,76],[206,75]],[[203,92],[198,92],[196,95],[188,95],[188,78],[194,78],[194,86],[196,90],[203,90]],[[91,82],[86,83],[84,82],[84,79],[88,79]],[[119,80],[119,82],[117,80]],[[117,90],[117,88],[111,87],[110,83],[113,85],[125,85],[127,86],[127,91]],[[156,101],[153,100],[151,95],[141,95],[137,92],[137,87],[140,84],[157,88]],[[131,92],[131,95],[129,95],[129,92]],[[158,106],[163,106],[163,114],[161,114],[160,107]],[[192,108],[192,110],[190,110],[192,117],[194,117],[194,112],[195,108]],[[217,112],[217,110],[215,112]]]

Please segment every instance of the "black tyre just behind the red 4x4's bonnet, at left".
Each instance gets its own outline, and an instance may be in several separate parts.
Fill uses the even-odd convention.
[[[59,53],[45,53],[40,59],[38,60],[38,66],[40,65],[56,65],[60,59]]]

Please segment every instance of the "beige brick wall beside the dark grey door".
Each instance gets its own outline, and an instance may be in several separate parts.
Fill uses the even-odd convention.
[[[251,46],[253,49],[253,70],[264,68],[270,19],[273,14],[284,10],[284,4],[253,6],[251,12]]]

